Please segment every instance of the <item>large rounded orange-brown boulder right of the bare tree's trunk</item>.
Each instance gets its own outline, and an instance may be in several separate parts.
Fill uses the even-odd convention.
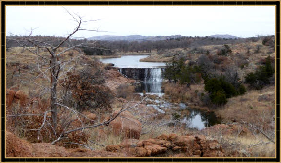
[[[115,117],[119,111],[115,111],[112,117]],[[141,136],[141,122],[128,111],[121,112],[116,119],[109,123],[109,127],[112,128],[114,134],[124,134],[126,138],[139,139]]]

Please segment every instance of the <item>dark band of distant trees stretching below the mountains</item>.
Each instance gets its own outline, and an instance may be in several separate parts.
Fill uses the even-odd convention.
[[[14,37],[14,36],[13,36]],[[21,36],[24,37],[24,36]],[[48,44],[57,45],[65,39],[64,37],[56,36],[30,36],[34,40],[40,40]],[[7,47],[19,46],[19,44],[13,41],[12,36],[7,36]],[[264,39],[264,43],[272,44],[271,40],[274,40],[274,36],[258,36],[250,38],[235,38],[235,39],[226,39],[226,38],[214,38],[214,37],[181,37],[181,38],[171,38],[167,40],[159,41],[94,41],[87,39],[71,39],[68,42],[65,42],[62,46],[77,45],[84,42],[93,43],[97,48],[110,49],[115,52],[152,52],[152,51],[162,51],[175,48],[190,48],[190,47],[199,47],[204,45],[221,45],[221,44],[234,44],[234,43],[243,43],[243,42],[257,42],[259,39]],[[10,40],[10,41],[9,41]],[[270,40],[270,41],[268,41]],[[274,42],[273,42],[274,44]],[[28,45],[29,46],[29,45]],[[32,46],[30,44],[30,46]],[[92,45],[91,45],[92,46]],[[94,50],[93,50],[94,51]]]

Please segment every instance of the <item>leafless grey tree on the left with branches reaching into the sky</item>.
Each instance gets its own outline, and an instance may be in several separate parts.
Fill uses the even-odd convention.
[[[82,56],[80,47],[89,47],[89,48],[96,48],[94,47],[95,42],[83,42],[80,44],[74,45],[71,41],[72,36],[79,32],[79,31],[98,31],[98,30],[91,30],[91,29],[84,29],[82,28],[82,24],[87,22],[94,22],[97,20],[88,20],[83,21],[82,18],[75,14],[70,13],[67,9],[65,9],[66,12],[75,20],[76,27],[74,28],[73,32],[68,34],[63,40],[61,40],[57,45],[50,44],[47,42],[43,42],[40,40],[35,40],[32,37],[33,29],[31,30],[30,34],[28,36],[17,36],[13,35],[9,37],[8,41],[15,41],[19,44],[20,47],[23,47],[24,50],[29,51],[30,53],[37,56],[37,63],[36,68],[32,69],[30,72],[39,72],[38,75],[35,77],[29,77],[29,82],[32,82],[36,84],[37,86],[43,87],[45,92],[50,92],[50,99],[51,99],[51,117],[52,117],[52,126],[53,128],[57,127],[57,106],[58,100],[58,93],[57,93],[57,85],[60,84],[59,78],[64,76],[67,72],[71,71],[74,67],[69,67],[69,63],[74,61],[75,59]],[[62,46],[67,47],[59,52],[59,48]],[[76,50],[79,52],[78,56],[71,58],[70,60],[64,60],[63,55],[70,50]],[[47,51],[47,54],[43,54],[43,51]],[[21,76],[27,78],[27,73],[20,74]],[[49,76],[50,75],[50,76]],[[47,82],[50,82],[50,87],[44,86],[36,82],[37,78],[43,78]]]

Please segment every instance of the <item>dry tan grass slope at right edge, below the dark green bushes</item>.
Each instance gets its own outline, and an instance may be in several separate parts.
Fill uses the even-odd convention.
[[[264,97],[264,98],[263,98]],[[226,121],[246,121],[274,129],[274,86],[251,90],[242,96],[228,99],[225,106],[216,109],[216,114]]]

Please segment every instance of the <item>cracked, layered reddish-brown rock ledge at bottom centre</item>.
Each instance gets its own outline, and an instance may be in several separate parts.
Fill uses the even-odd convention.
[[[128,145],[124,145],[128,144]],[[130,149],[127,149],[130,148]],[[199,136],[161,135],[148,140],[124,140],[120,145],[109,145],[106,151],[131,151],[133,156],[148,157],[160,154],[179,157],[223,157],[224,151],[218,141]]]

